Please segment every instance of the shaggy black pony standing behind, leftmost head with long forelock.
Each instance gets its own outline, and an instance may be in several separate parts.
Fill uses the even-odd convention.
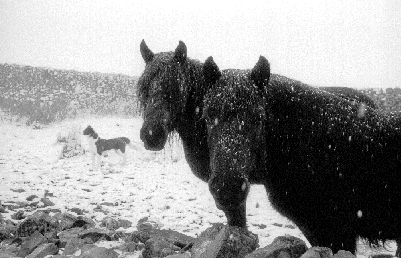
[[[206,74],[208,81],[205,81],[203,63],[188,58],[186,46],[181,41],[175,51],[157,54],[154,54],[142,41],[140,51],[146,63],[137,85],[144,118],[140,137],[145,148],[161,150],[164,148],[168,135],[173,131],[178,132],[191,170],[197,177],[208,182],[211,176],[211,165],[213,166],[214,163],[210,162],[208,127],[202,115],[203,102],[210,88],[210,81],[218,79],[217,75],[214,77],[215,71],[210,70]],[[217,66],[215,68],[218,71]],[[269,70],[266,71],[270,74]],[[247,72],[249,71],[243,71],[243,73]],[[260,69],[260,72],[263,73],[263,69]],[[255,79],[264,78],[256,74],[254,76]],[[279,84],[282,82],[282,77],[272,75],[270,81]],[[336,90],[332,89],[331,92],[336,93]],[[336,98],[333,94],[327,92],[325,94],[330,95],[330,98]],[[265,105],[263,102],[261,104],[261,107]],[[258,155],[262,155],[262,152]],[[249,185],[247,183],[244,185],[242,182],[240,187],[241,190],[244,188],[241,193],[246,196]],[[211,188],[213,193],[214,190],[212,190]],[[223,208],[219,204],[218,206]],[[245,225],[245,206],[240,212],[235,210],[231,212],[226,209],[225,213],[229,224]]]

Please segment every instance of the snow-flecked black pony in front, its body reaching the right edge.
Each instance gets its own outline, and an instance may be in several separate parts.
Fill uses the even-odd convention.
[[[400,238],[399,114],[270,76],[263,57],[222,72],[209,58],[204,74],[209,186],[232,224],[245,225],[248,185],[262,183],[312,246],[354,252],[358,236]]]

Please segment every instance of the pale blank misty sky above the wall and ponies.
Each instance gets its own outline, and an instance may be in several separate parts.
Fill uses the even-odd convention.
[[[316,86],[401,87],[401,1],[0,0],[0,63],[140,75],[139,44]]]

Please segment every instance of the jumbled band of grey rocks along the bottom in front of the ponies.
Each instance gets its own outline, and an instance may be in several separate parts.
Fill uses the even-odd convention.
[[[36,208],[37,198],[31,196],[27,202],[0,204],[0,258],[355,257],[345,251],[333,256],[329,248],[323,247],[308,250],[304,241],[292,236],[277,237],[270,245],[258,248],[256,234],[222,223],[193,238],[174,230],[159,229],[157,223],[145,217],[138,221],[135,231],[125,233],[121,229],[133,227],[128,220],[105,217],[96,223],[78,208],[68,212],[52,208],[46,195],[40,198],[44,206]],[[21,208],[36,211],[25,216]],[[102,210],[102,206],[98,209]],[[11,218],[19,223],[4,219],[1,213],[11,213]]]

